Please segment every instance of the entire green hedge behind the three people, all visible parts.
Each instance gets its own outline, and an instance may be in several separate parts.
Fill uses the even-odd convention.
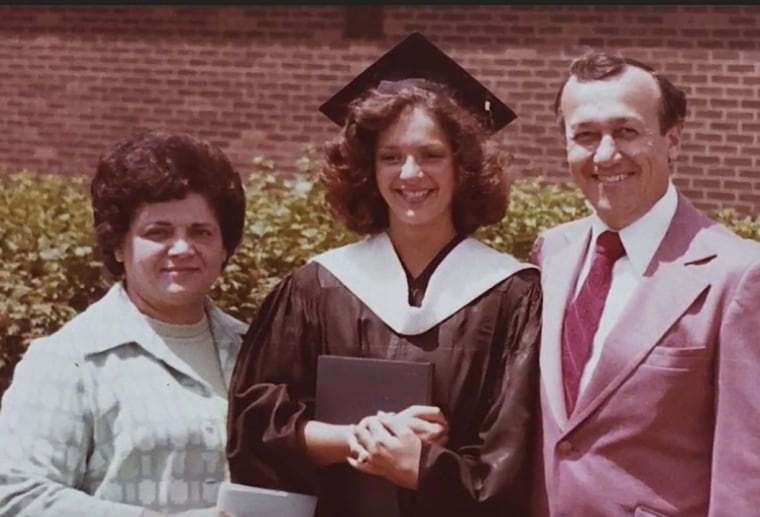
[[[211,293],[244,321],[288,271],[357,238],[325,209],[315,181],[317,163],[307,149],[297,162],[299,172],[285,176],[271,162],[254,160],[243,242]],[[0,176],[0,393],[31,338],[58,329],[113,282],[94,247],[88,185],[87,178],[29,172]],[[477,237],[525,258],[541,230],[587,213],[573,187],[520,180],[507,217]],[[760,240],[760,220],[731,211],[719,217]]]

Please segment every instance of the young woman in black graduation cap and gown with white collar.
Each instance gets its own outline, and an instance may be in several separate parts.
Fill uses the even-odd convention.
[[[438,79],[461,69],[421,35],[373,67],[399,78],[368,85],[364,74],[322,107],[344,122],[326,150],[327,203],[366,237],[288,275],[250,326],[230,390],[231,480],[316,494],[318,516],[525,515],[539,273],[469,237],[505,214],[485,139],[514,114],[497,100],[480,113],[489,105],[472,83],[492,94],[469,74]],[[334,109],[349,97],[347,112]],[[432,362],[433,405],[319,422],[322,354]],[[393,488],[362,499],[357,472]]]

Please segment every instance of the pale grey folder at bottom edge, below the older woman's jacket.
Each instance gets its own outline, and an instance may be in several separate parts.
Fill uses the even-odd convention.
[[[223,481],[216,507],[231,517],[314,517],[317,498]]]

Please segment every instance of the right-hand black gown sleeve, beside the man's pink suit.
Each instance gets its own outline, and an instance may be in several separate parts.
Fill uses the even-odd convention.
[[[416,517],[529,515],[538,425],[541,284],[536,270],[513,277],[499,321],[506,325],[498,392],[476,443],[450,450],[423,444]],[[475,403],[475,401],[473,401]]]

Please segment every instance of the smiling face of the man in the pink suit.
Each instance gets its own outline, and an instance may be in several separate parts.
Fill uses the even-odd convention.
[[[660,98],[655,79],[636,67],[598,81],[571,77],[565,85],[561,109],[570,171],[612,229],[636,221],[667,190],[668,160],[678,155],[681,128],[662,134]]]

